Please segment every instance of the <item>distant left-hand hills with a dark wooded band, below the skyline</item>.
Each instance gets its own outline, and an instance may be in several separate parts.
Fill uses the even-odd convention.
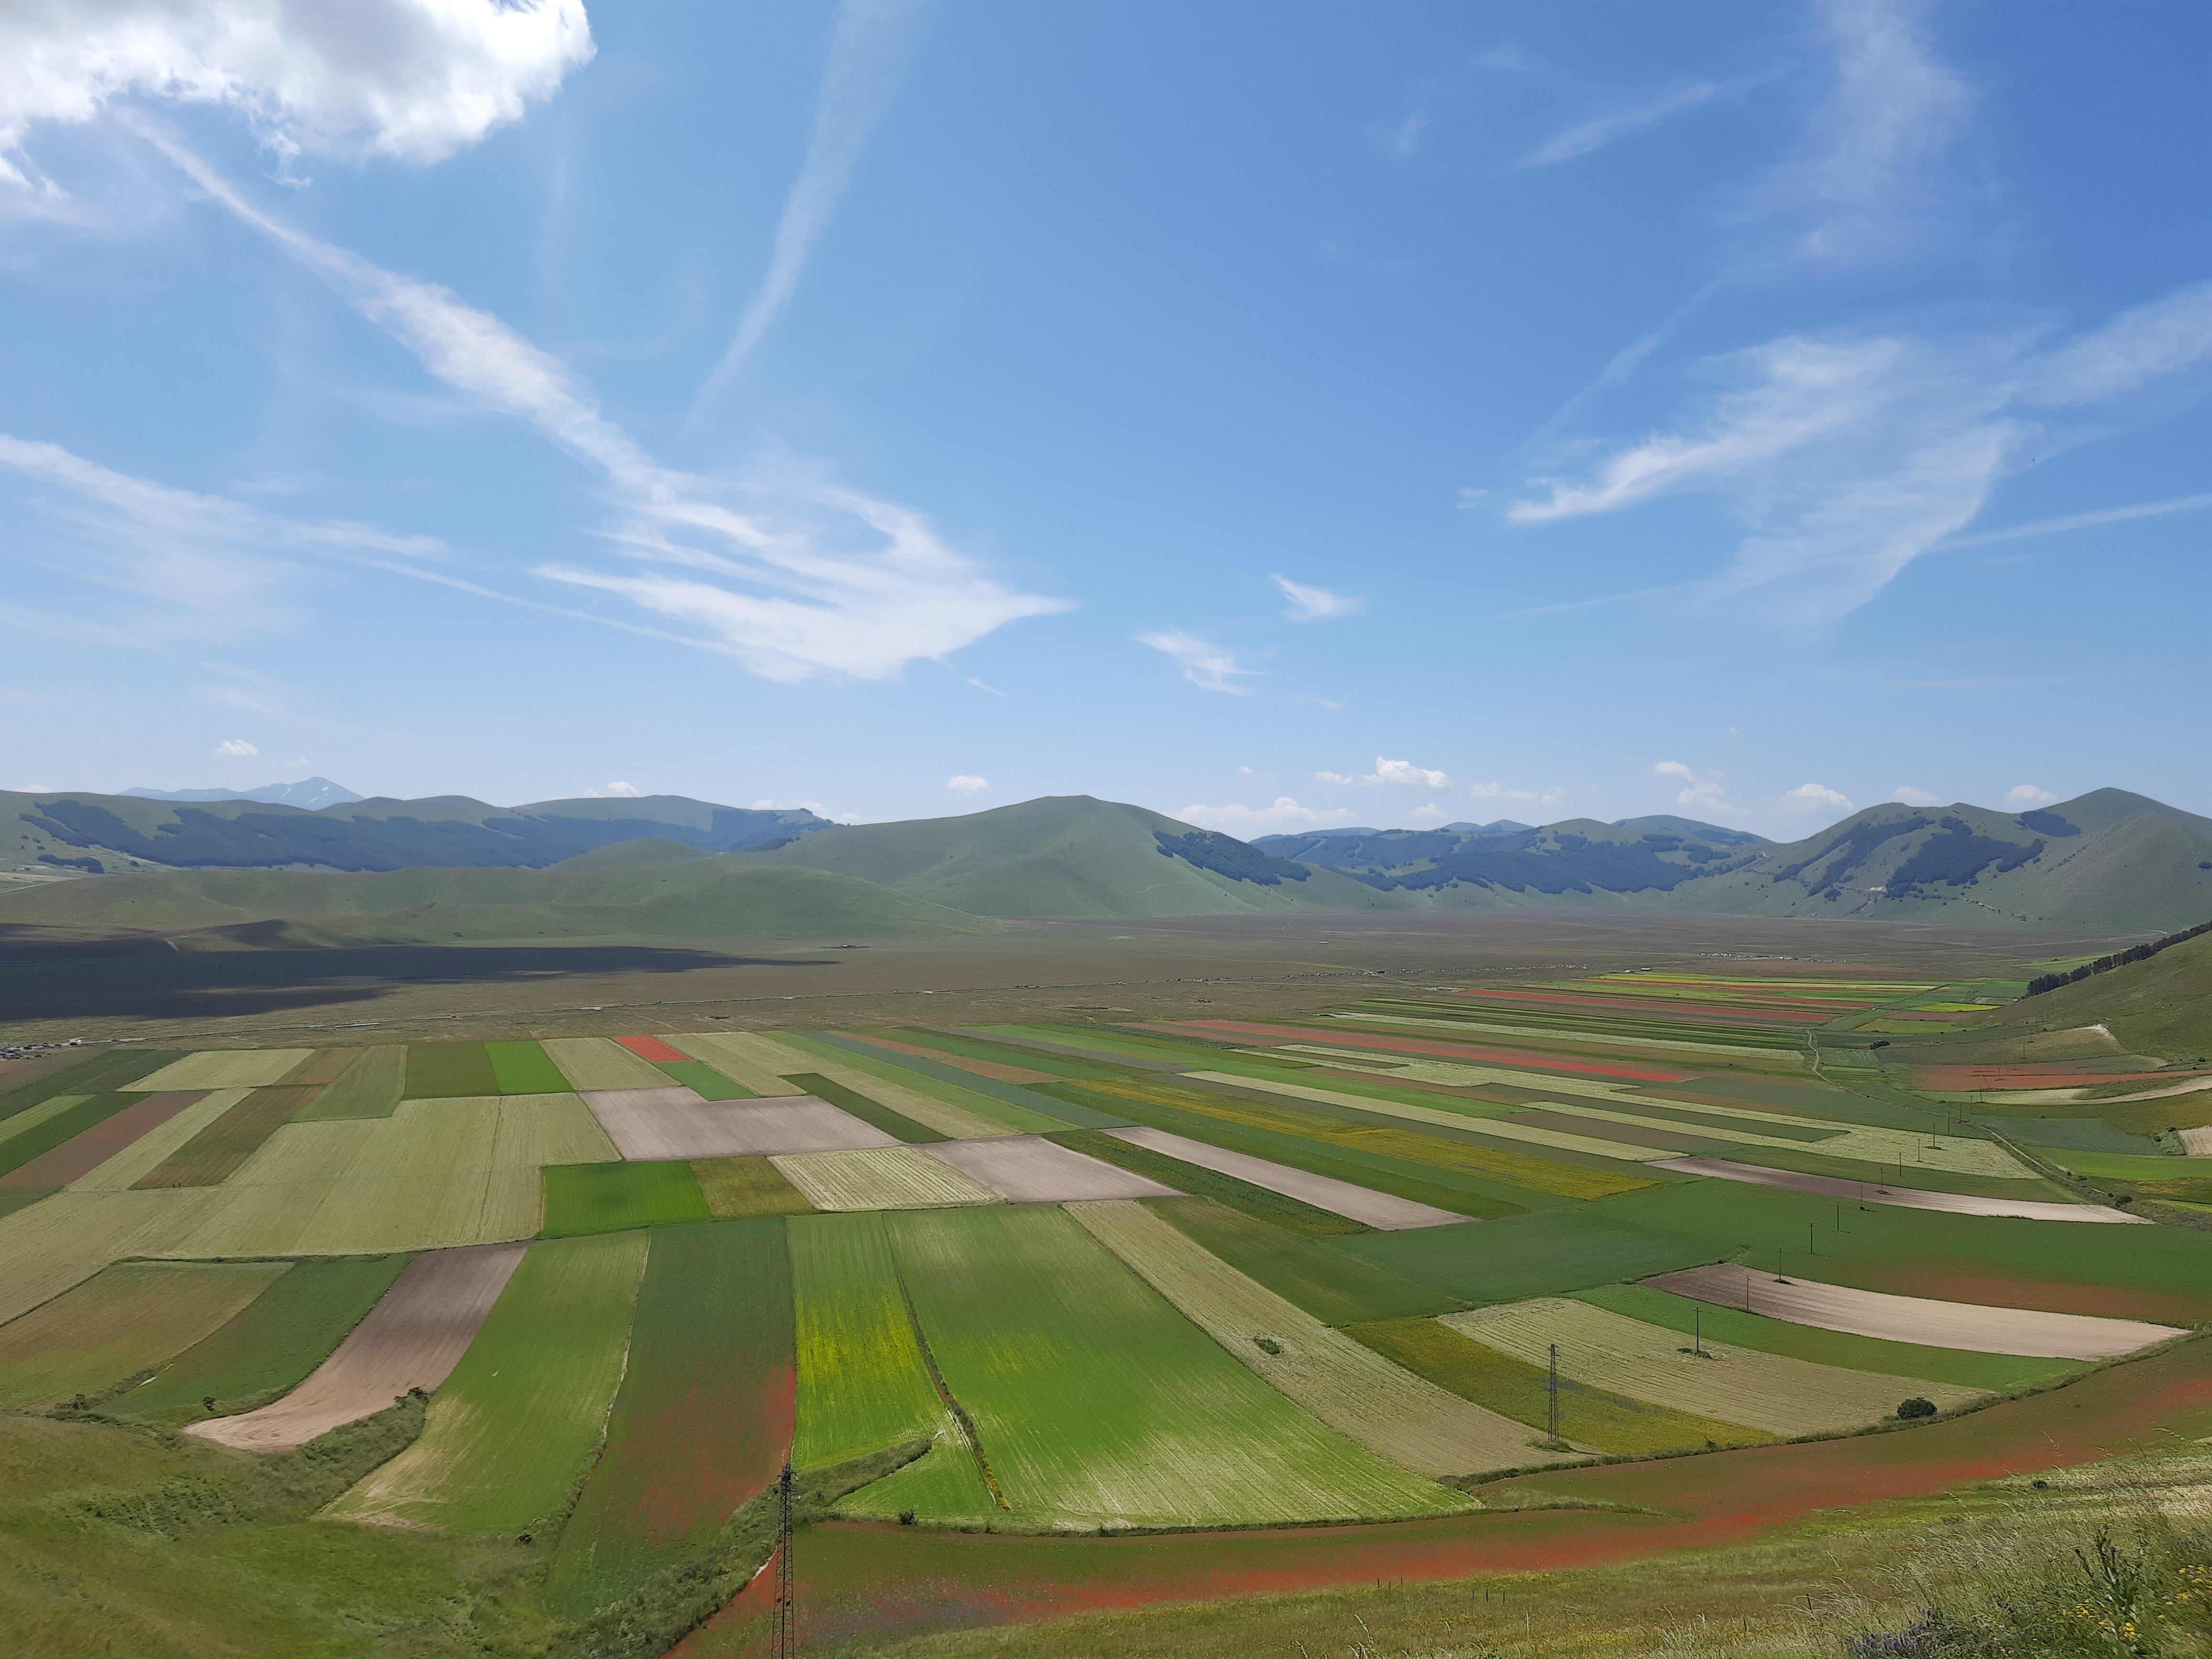
[[[719,807],[681,794],[491,807],[465,794],[341,801],[305,812],[257,801],[0,790],[0,865],[18,869],[520,867],[659,836],[703,852],[774,847],[823,827],[812,812]]]

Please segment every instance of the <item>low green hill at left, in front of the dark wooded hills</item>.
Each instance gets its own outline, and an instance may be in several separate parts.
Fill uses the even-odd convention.
[[[619,867],[624,858],[628,867]],[[553,869],[190,869],[58,880],[0,896],[7,925],[157,933],[186,945],[949,938],[993,927],[834,872],[714,854],[675,858],[639,843]]]

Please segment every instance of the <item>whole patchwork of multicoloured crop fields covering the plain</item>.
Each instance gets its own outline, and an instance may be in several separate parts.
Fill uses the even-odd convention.
[[[323,1535],[524,1551],[557,1632],[737,1559],[785,1462],[823,1540],[1444,1562],[1588,1464],[1889,1467],[2053,1391],[2124,1416],[2152,1365],[2212,1405],[2212,1091],[1867,1035],[1962,998],[1613,973],[40,1062],[0,1071],[0,1411],[259,1460],[403,1425]],[[2154,1088],[2170,1139],[2099,1113]]]

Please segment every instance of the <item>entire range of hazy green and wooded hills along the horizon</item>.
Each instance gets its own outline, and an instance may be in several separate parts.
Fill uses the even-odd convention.
[[[1692,818],[1243,843],[1044,796],[834,825],[684,796],[281,803],[0,794],[0,925],[270,940],[914,938],[1053,916],[1590,909],[2168,931],[2212,916],[2212,818],[2124,790],[1867,807],[1794,843]],[[100,880],[29,880],[35,874]],[[243,931],[241,931],[243,929]]]

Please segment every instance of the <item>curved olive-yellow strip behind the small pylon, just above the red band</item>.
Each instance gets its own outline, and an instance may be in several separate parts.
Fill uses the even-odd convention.
[[[1433,1318],[1347,1325],[1345,1334],[1462,1400],[1513,1418],[1540,1436],[1551,1431],[1553,1387],[1544,1367],[1471,1343]],[[1562,1440],[1613,1455],[1754,1447],[1774,1440],[1763,1429],[1672,1411],[1650,1400],[1630,1400],[1626,1394],[1573,1378],[1559,1378],[1557,1405]]]

